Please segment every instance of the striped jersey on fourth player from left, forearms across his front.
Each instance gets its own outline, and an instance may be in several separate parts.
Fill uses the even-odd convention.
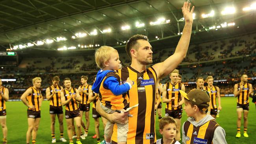
[[[76,88],[71,88],[70,90],[64,89],[63,94],[65,96],[65,100],[68,100],[70,98],[70,95],[76,95]],[[73,97],[69,104],[66,105],[66,110],[68,111],[74,111],[78,109],[78,104],[76,99]]]

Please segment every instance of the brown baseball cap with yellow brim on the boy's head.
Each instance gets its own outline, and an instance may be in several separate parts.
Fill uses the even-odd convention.
[[[210,96],[207,91],[195,89],[191,90],[188,94],[182,90],[179,91],[180,94],[184,96],[185,102],[190,103],[191,106],[197,105],[197,107],[202,111],[206,111],[210,106]]]

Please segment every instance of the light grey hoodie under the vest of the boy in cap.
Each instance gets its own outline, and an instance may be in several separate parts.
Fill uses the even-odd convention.
[[[200,120],[199,122],[195,121],[195,118],[187,118],[187,121],[189,121],[191,124],[193,124],[194,126],[198,127],[198,126],[202,126],[203,124],[205,124],[206,122],[210,121],[210,120],[215,120],[215,118],[213,118],[211,115],[206,115],[202,120]],[[186,135],[185,135],[185,131],[184,131],[184,124],[182,125],[182,144],[186,144]],[[226,139],[225,139],[226,133],[224,131],[224,129],[220,126],[218,126],[215,131],[214,131],[214,135],[213,135],[213,144],[226,144]]]

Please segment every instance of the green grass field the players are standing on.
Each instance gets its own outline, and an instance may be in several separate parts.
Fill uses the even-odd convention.
[[[249,138],[241,137],[235,138],[236,135],[236,98],[221,98],[221,103],[223,110],[220,113],[220,117],[217,118],[217,122],[226,131],[226,141],[228,144],[255,144],[254,136],[256,134],[256,110],[255,104],[250,102],[250,112],[249,112],[249,126],[248,134]],[[163,104],[163,107],[165,104]],[[27,131],[27,107],[22,102],[7,102],[7,127],[8,136],[7,140],[9,144],[24,144],[26,142],[26,131]],[[162,109],[162,114],[164,115],[164,109]],[[185,111],[182,114],[182,124],[187,119]],[[85,120],[85,118],[83,118]],[[101,120],[100,120],[101,122]],[[242,121],[243,122],[243,121]],[[59,124],[56,122],[56,139],[57,144],[63,142],[59,141]],[[101,140],[103,140],[103,126],[100,123]],[[158,132],[158,117],[156,117],[156,133],[157,138],[161,138]],[[243,126],[241,127],[241,133],[243,133]],[[85,140],[82,140],[83,144],[96,144],[96,139],[91,138],[95,134],[94,130],[94,120],[91,117],[90,110],[90,127],[89,134]],[[64,120],[64,137],[67,137],[67,125]],[[2,130],[0,131],[0,138],[2,139]],[[37,144],[51,144],[51,131],[50,131],[50,114],[49,114],[49,102],[44,101],[41,109],[41,122],[39,130],[37,133]],[[66,142],[68,144],[68,142]]]

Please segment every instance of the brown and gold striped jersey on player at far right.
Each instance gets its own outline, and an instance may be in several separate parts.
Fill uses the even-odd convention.
[[[237,97],[237,103],[247,104],[249,103],[249,85],[250,83],[244,83],[243,89],[240,91],[239,96]],[[237,90],[240,89],[240,83],[237,83]]]

